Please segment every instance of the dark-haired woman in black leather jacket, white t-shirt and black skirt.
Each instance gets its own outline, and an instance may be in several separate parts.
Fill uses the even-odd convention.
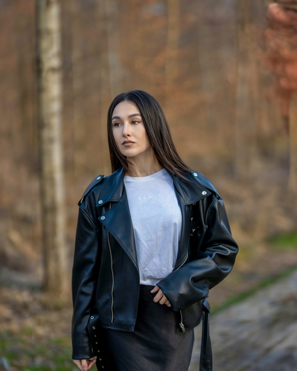
[[[206,298],[238,252],[222,198],[181,160],[147,92],[116,96],[107,124],[113,173],[78,203],[72,359],[83,371],[186,371],[203,316],[209,371]]]

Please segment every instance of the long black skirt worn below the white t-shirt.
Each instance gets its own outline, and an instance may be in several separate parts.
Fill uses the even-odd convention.
[[[140,285],[133,332],[103,329],[107,361],[112,371],[189,369],[194,330],[182,332],[180,312],[165,304],[154,303],[156,293],[150,293],[153,288]]]

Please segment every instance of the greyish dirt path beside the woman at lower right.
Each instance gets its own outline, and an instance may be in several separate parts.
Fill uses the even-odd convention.
[[[210,315],[213,371],[297,370],[297,271]],[[201,324],[190,371],[199,370]]]

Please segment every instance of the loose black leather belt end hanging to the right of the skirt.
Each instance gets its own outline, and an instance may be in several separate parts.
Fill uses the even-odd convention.
[[[210,305],[207,299],[202,302],[202,339],[200,351],[200,371],[212,371],[212,350],[209,336],[209,312]]]

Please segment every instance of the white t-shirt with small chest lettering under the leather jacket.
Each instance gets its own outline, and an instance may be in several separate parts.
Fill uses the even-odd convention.
[[[182,213],[172,178],[165,169],[146,177],[124,176],[133,224],[140,284],[156,285],[172,272]]]

